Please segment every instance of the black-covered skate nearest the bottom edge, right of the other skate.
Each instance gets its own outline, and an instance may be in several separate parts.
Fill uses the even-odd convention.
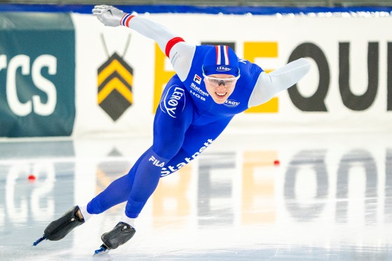
[[[100,249],[97,249],[94,255],[102,255],[108,253],[111,249],[116,249],[119,246],[126,244],[129,239],[133,237],[136,230],[127,223],[119,222],[113,230],[102,234],[101,239],[104,242]]]

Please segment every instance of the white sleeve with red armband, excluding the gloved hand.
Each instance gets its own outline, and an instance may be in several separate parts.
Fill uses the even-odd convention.
[[[185,43],[181,37],[173,34],[163,25],[138,15],[130,17],[128,26],[143,36],[156,41],[162,52],[169,57],[180,80],[187,79],[196,45]]]

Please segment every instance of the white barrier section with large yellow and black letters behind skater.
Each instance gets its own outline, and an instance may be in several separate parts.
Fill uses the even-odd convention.
[[[185,41],[232,45],[239,57],[266,71],[299,57],[311,60],[311,71],[290,92],[237,115],[229,126],[233,132],[392,129],[392,33],[387,30],[392,17],[145,16]],[[74,135],[151,129],[161,90],[173,75],[168,58],[131,29],[104,27],[90,15],[72,19],[78,64]],[[133,69],[134,101],[115,121],[97,105],[96,87],[97,69],[114,52]]]

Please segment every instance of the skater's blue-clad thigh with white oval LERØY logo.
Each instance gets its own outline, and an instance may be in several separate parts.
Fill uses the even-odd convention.
[[[184,142],[184,136],[191,125],[194,104],[189,92],[178,76],[173,76],[163,90],[161,101],[154,118],[154,141],[152,150],[170,160]]]

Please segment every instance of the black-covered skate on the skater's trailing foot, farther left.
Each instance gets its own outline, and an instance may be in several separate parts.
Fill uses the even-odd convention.
[[[79,218],[79,215],[77,214],[78,211],[79,206],[74,206],[58,220],[50,223],[43,231],[43,236],[35,241],[33,246],[38,245],[43,240],[58,241],[67,236],[75,227],[79,227],[79,225],[83,224],[84,219]]]

